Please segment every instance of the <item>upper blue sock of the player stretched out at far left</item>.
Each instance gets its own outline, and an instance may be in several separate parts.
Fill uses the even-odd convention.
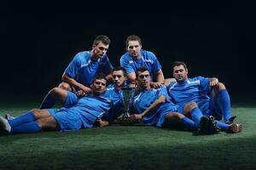
[[[34,116],[32,111],[29,111],[27,113],[24,113],[23,115],[17,116],[15,119],[8,120],[8,122],[11,127],[16,127],[26,122],[34,122],[35,120],[36,117]]]

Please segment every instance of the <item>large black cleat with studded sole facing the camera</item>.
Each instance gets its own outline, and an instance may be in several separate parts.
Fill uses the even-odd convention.
[[[213,116],[202,116],[198,133],[215,134],[219,132]]]

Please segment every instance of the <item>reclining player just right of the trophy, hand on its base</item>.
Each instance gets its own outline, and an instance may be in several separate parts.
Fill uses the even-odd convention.
[[[197,130],[201,127],[202,114],[196,105],[186,105],[186,111],[193,120],[177,112],[177,106],[170,100],[166,86],[150,88],[150,74],[147,68],[137,69],[138,91],[134,96],[130,122],[143,121],[148,126],[162,127],[172,120],[178,120],[183,127]],[[207,122],[208,123],[208,122]],[[206,129],[204,129],[206,130]]]

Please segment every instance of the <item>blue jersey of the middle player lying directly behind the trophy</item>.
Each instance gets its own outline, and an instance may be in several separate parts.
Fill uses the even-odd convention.
[[[108,120],[112,122],[114,119],[119,117],[125,112],[124,102],[123,102],[123,91],[114,88],[113,84],[108,85],[108,88],[103,97],[111,99],[113,102],[113,107],[108,112]]]

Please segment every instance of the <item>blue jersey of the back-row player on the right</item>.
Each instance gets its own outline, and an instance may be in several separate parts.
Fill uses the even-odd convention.
[[[152,76],[156,76],[162,66],[152,52],[141,50],[142,58],[132,59],[131,55],[126,52],[120,59],[120,65],[125,68],[127,74],[136,73],[137,68],[146,67]]]

